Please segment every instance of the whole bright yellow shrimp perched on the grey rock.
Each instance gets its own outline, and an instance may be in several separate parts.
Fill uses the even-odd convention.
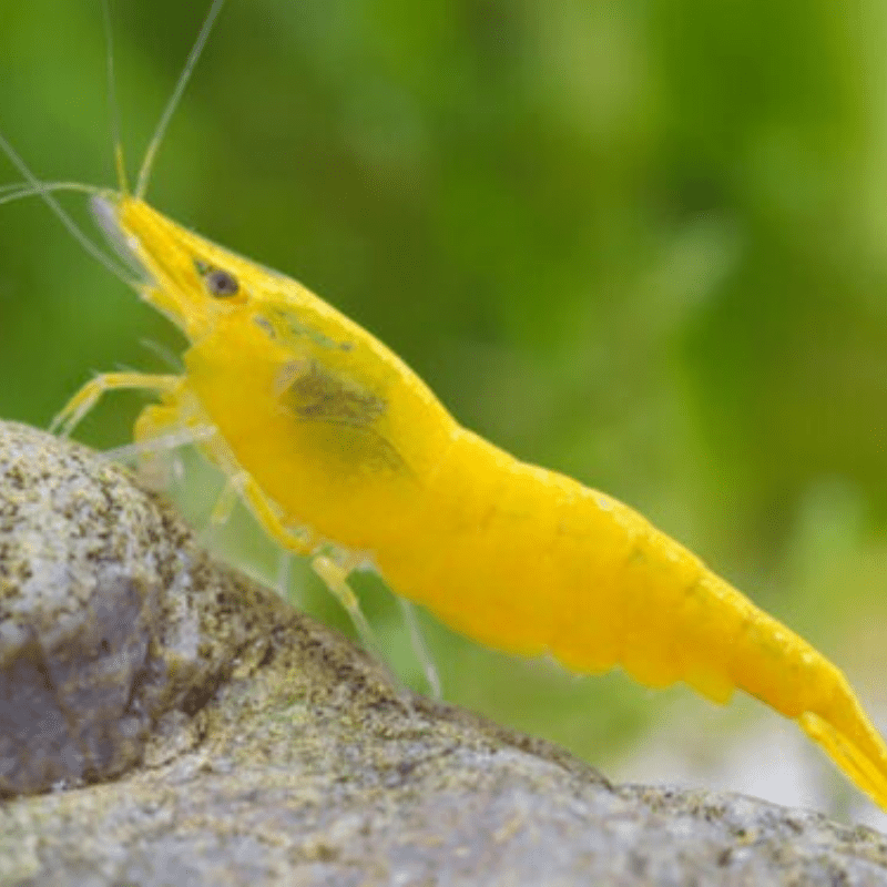
[[[63,428],[106,390],[153,390],[135,439],[193,432],[268,533],[346,600],[348,571],[369,563],[491,648],[582,673],[621,665],[718,703],[743,690],[887,809],[887,746],[834,664],[632,509],[462,428],[304,286],[153,210],[146,170],[134,195],[121,184],[92,204],[143,271],[139,295],[187,337],[184,371],[100,376]]]

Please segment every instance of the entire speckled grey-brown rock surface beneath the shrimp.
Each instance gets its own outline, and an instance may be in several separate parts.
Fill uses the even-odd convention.
[[[613,787],[407,696],[89,451],[0,422],[0,884],[887,885],[887,838]]]

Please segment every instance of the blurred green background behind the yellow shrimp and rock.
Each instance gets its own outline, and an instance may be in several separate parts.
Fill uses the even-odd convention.
[[[131,167],[205,9],[115,6]],[[150,197],[324,295],[468,427],[639,508],[838,661],[885,727],[885,47],[880,0],[230,0]],[[0,129],[40,176],[113,182],[104,71],[98,0],[0,0]],[[146,340],[182,350],[38,201],[2,207],[0,416],[43,427],[93,370],[163,369]],[[125,442],[141,402],[109,398],[78,437]],[[172,483],[273,580],[243,514],[208,528],[217,490],[194,460]],[[357,584],[421,686],[396,602]],[[422,621],[448,700],[611,775],[655,759],[744,788],[763,761],[799,785],[750,791],[870,809],[757,704],[578,679]]]

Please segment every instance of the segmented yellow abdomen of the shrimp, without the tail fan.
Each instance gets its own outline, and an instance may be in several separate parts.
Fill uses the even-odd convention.
[[[828,663],[626,506],[468,431],[429,483],[420,532],[377,562],[458,631],[577,672],[619,664],[649,686],[806,710]]]

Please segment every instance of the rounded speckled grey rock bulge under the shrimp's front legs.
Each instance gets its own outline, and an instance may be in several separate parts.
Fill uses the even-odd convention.
[[[246,623],[221,615],[255,593],[123,469],[3,425],[0,796],[140,761],[151,724],[197,706],[251,642]]]

